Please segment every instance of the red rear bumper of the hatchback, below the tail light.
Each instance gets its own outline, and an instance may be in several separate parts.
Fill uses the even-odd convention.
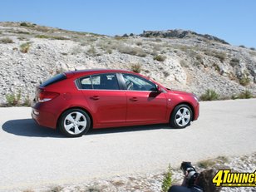
[[[56,129],[57,126],[57,118],[52,112],[43,109],[39,105],[35,105],[32,107],[31,113],[32,119],[37,122],[39,126],[47,126],[52,129]]]

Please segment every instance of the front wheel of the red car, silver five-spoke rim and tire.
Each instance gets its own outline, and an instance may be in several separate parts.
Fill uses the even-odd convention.
[[[170,116],[170,126],[178,129],[185,128],[186,126],[190,126],[192,118],[193,112],[190,106],[185,104],[175,106]]]

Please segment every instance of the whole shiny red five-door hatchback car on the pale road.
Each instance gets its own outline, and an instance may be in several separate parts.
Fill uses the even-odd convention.
[[[184,128],[199,117],[196,96],[172,91],[122,70],[68,71],[37,87],[32,118],[41,126],[81,136],[90,128],[170,123]]]

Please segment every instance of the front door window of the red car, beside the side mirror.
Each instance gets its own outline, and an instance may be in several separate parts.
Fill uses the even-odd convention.
[[[131,74],[123,74],[126,89],[132,91],[155,91],[156,86],[153,82],[146,80],[143,77],[135,76]]]

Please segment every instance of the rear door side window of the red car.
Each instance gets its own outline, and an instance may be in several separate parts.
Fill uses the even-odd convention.
[[[99,74],[81,79],[82,89],[119,90],[116,74]]]

